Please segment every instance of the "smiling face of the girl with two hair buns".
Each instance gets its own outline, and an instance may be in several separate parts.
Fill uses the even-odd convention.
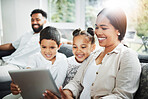
[[[78,35],[73,38],[73,54],[77,62],[83,62],[95,49],[95,44],[91,44],[85,35]]]

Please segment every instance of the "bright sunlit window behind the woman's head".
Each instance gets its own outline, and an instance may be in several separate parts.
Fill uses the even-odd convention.
[[[148,54],[148,0],[87,0],[85,27],[94,27],[103,7],[120,6],[127,15],[128,27],[123,43],[139,54]]]

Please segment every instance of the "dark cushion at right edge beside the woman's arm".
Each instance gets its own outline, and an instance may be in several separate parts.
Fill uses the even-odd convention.
[[[142,71],[139,88],[134,99],[148,99],[148,63],[141,63]]]

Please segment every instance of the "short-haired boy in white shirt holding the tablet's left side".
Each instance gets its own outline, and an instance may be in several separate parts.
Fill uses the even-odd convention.
[[[40,33],[40,48],[41,52],[36,53],[30,57],[30,62],[27,68],[46,68],[49,69],[57,87],[60,87],[66,77],[67,61],[66,56],[58,53],[60,45],[60,33],[54,27],[46,27]],[[20,88],[11,83],[12,94],[6,96],[4,99],[18,99],[20,98]],[[15,96],[16,95],[16,96]]]

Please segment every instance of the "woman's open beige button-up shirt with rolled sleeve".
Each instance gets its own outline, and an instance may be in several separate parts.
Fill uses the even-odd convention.
[[[76,99],[84,88],[83,79],[89,63],[93,62],[101,51],[93,52],[80,66],[74,79],[64,87],[71,90]],[[120,43],[104,56],[90,88],[91,99],[132,99],[139,86],[140,73],[141,66],[137,54]]]

